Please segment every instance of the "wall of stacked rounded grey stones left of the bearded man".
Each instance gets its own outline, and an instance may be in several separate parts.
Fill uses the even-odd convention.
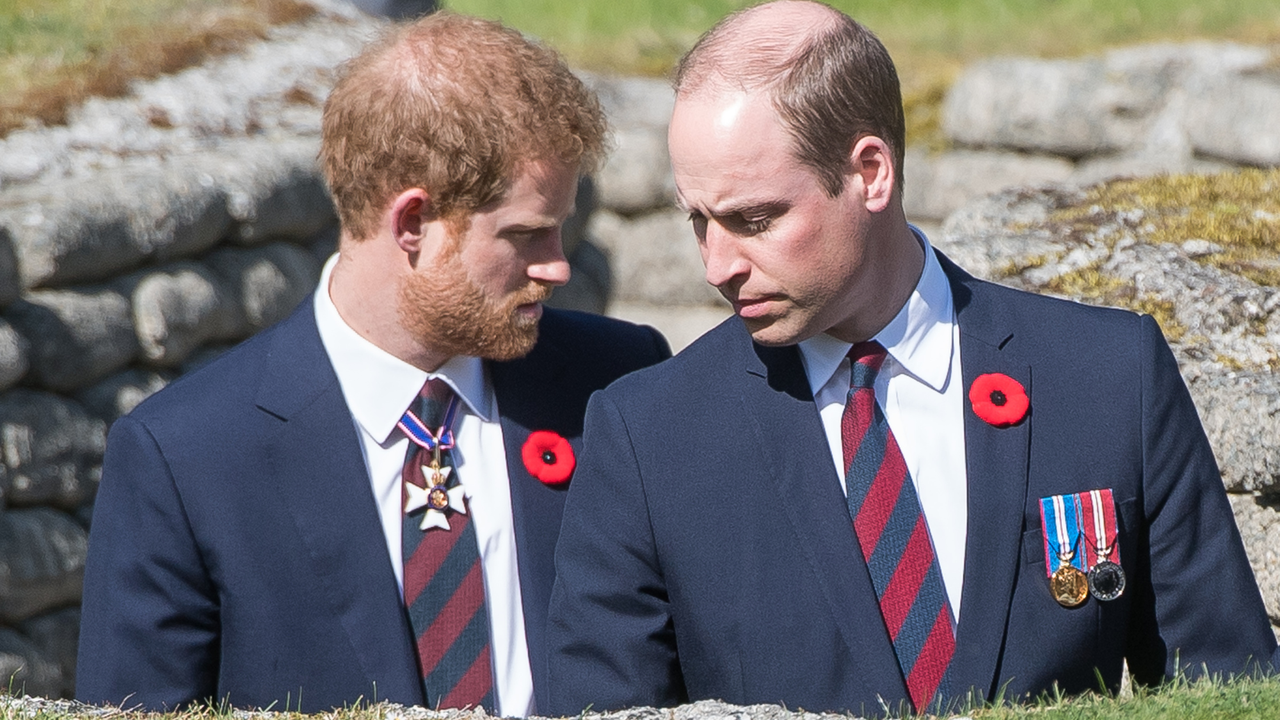
[[[355,10],[91,100],[0,140],[0,678],[74,688],[106,429],[314,287],[335,218],[316,173]]]

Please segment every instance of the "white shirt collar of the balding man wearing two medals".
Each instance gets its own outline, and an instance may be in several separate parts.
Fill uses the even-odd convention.
[[[879,341],[908,374],[942,392],[951,374],[955,342],[951,284],[924,233],[915,227],[911,231],[924,249],[924,269],[906,304],[872,340]],[[814,396],[831,382],[851,347],[827,333],[800,342],[800,359]]]

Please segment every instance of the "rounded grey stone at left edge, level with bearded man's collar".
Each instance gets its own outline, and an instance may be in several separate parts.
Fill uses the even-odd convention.
[[[31,343],[28,375],[54,391],[90,386],[138,351],[129,301],[113,288],[33,291],[8,320]]]

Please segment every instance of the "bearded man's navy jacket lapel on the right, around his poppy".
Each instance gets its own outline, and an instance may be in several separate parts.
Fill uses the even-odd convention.
[[[511,483],[512,527],[520,571],[520,598],[525,615],[525,639],[534,678],[534,702],[548,707],[547,698],[547,609],[556,578],[556,541],[564,514],[568,484],[547,486],[532,477],[522,448],[534,430],[554,430],[567,438],[573,452],[582,447],[582,404],[568,397],[563,373],[567,357],[552,342],[540,340],[527,356],[509,363],[489,363],[489,378],[498,397],[502,441]]]

